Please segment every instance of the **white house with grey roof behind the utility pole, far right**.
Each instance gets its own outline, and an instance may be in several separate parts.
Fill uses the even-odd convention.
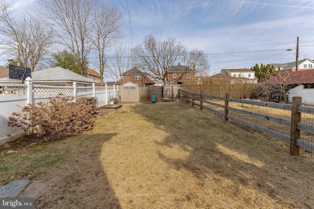
[[[296,67],[296,61],[294,62],[289,62],[289,63],[282,63],[282,64],[270,64],[270,66],[274,66],[276,70],[278,70],[278,68],[280,68],[280,71],[288,71],[288,70],[292,70],[295,71],[295,67]],[[311,59],[304,59],[304,60],[299,60],[298,61],[298,70],[310,70],[310,69],[314,69],[314,61]]]

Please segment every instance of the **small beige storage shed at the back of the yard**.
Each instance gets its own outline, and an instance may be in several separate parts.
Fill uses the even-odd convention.
[[[133,82],[125,83],[121,86],[121,102],[139,102],[141,91],[138,84]]]

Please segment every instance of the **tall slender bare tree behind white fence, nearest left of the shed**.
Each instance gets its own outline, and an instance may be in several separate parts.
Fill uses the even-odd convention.
[[[121,26],[121,12],[108,3],[97,2],[91,40],[99,58],[99,74],[101,77],[104,76],[106,66],[105,50],[123,38]],[[101,79],[101,85],[104,85],[103,79]]]

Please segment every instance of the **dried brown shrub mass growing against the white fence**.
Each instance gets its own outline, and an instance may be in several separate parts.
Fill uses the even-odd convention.
[[[38,102],[36,106],[28,104],[20,113],[12,113],[8,125],[25,131],[35,128],[37,137],[57,139],[91,129],[98,113],[96,99],[83,97],[71,102],[73,97],[62,95],[49,97],[49,102]]]

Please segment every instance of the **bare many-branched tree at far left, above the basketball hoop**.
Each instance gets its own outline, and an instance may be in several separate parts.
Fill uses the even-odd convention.
[[[52,29],[29,15],[17,16],[12,4],[0,0],[0,48],[33,71],[52,45]]]

